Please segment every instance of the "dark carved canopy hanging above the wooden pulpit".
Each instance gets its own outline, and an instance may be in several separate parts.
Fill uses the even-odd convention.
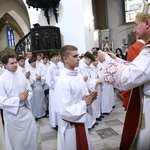
[[[26,0],[27,5],[33,8],[44,10],[44,15],[47,19],[47,23],[50,24],[49,12],[52,11],[55,20],[58,23],[58,6],[60,0]]]

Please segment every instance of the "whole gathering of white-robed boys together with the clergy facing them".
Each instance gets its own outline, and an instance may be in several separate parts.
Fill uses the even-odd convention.
[[[149,150],[150,15],[146,11],[136,15],[138,40],[129,47],[127,61],[120,48],[116,55],[92,48],[79,56],[73,45],[59,52],[50,50],[49,56],[38,53],[36,58],[30,51],[26,56],[4,54],[0,60],[1,148],[38,150],[36,120],[49,117],[50,126],[58,130],[58,150],[92,150],[88,130],[100,123],[102,114],[111,113],[116,88],[123,90],[127,110],[120,150]]]

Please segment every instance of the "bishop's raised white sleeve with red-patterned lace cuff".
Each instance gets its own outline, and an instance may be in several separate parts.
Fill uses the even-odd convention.
[[[131,63],[125,64],[111,58],[105,59],[100,70],[100,80],[122,90],[140,86],[150,80],[149,58],[150,49],[145,48]]]

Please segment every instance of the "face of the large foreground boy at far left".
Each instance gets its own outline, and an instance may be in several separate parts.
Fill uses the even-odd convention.
[[[9,58],[9,59],[8,59],[8,63],[7,63],[7,64],[4,64],[4,67],[5,67],[7,70],[12,71],[12,72],[17,71],[18,64],[17,64],[16,58]]]

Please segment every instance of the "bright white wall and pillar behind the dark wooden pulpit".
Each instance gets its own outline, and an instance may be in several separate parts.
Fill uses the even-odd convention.
[[[46,26],[47,20],[42,10],[28,9],[31,27],[39,23]],[[50,17],[50,25],[60,27],[63,45],[74,45],[78,47],[79,53],[91,50],[94,45],[94,30],[92,25],[91,0],[61,0],[59,5],[58,23],[54,15]]]

